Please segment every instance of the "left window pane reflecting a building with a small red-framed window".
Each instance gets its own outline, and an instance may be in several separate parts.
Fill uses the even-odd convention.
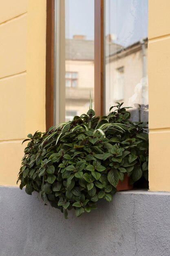
[[[60,9],[60,28],[56,32],[60,34],[60,49],[57,50],[60,63],[57,65],[59,70],[65,72],[65,76],[58,72],[60,88],[58,94],[56,89],[56,95],[62,95],[59,99],[62,107],[56,104],[56,117],[57,108],[65,108],[65,119],[68,121],[73,113],[81,115],[88,111],[90,92],[92,101],[94,99],[94,0],[56,1]],[[60,118],[59,121],[64,120]]]

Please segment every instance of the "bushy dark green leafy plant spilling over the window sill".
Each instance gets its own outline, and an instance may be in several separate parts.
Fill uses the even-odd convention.
[[[108,116],[75,116],[49,131],[29,134],[18,181],[26,193],[40,193],[45,204],[60,209],[65,218],[75,209],[78,217],[97,209],[104,198],[111,202],[119,180],[148,180],[147,124],[130,121],[122,103]],[[23,142],[24,142],[23,141]]]

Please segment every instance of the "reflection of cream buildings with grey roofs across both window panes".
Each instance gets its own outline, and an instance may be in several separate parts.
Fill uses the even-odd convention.
[[[133,121],[148,121],[148,39],[128,47],[106,36],[105,113],[116,102],[124,102]],[[94,41],[84,36],[66,39],[66,121],[88,111],[94,99]],[[80,104],[81,103],[81,104]]]

